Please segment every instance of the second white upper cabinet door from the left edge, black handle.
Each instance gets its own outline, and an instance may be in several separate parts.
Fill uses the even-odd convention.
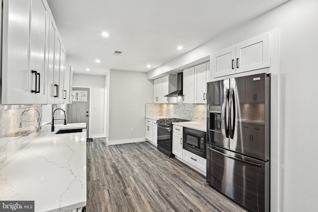
[[[31,1],[30,70],[35,73],[31,77],[31,87],[35,90],[35,104],[47,104],[48,11],[49,5],[46,1]]]

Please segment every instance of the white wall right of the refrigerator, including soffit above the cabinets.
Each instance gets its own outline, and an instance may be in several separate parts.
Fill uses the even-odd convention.
[[[279,27],[271,57],[271,211],[318,209],[318,0],[291,0],[149,72],[148,78]],[[277,62],[275,61],[276,59]]]

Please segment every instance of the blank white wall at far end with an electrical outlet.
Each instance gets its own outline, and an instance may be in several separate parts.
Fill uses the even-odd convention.
[[[145,141],[145,105],[153,101],[147,73],[110,70],[108,91],[108,141]]]

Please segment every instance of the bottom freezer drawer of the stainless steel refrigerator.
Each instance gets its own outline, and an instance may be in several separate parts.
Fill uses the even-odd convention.
[[[269,161],[208,144],[207,182],[252,212],[269,211]]]

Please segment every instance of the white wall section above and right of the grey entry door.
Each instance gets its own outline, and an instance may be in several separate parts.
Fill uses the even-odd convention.
[[[104,90],[105,76],[77,74],[73,75],[73,87],[91,87],[91,105],[89,126],[90,138],[105,137],[104,135]]]

